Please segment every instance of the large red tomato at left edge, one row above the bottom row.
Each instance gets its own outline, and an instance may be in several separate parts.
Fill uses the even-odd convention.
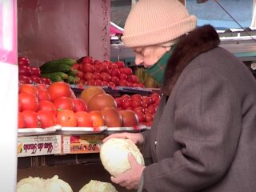
[[[18,102],[21,102],[21,111],[23,110],[38,110],[38,98],[34,94],[22,92],[18,94]]]

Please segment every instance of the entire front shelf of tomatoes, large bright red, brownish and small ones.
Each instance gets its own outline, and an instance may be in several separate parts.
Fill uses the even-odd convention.
[[[20,84],[18,128],[150,126],[159,98],[158,94],[114,98],[101,86],[87,86],[77,97],[66,82]]]

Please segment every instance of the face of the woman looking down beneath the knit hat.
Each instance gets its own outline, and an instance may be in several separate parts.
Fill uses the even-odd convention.
[[[170,47],[159,45],[135,47],[135,64],[143,65],[145,68],[153,66],[169,50]]]

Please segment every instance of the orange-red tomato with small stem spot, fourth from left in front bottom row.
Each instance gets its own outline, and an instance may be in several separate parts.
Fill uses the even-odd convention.
[[[77,126],[77,118],[73,110],[59,110],[56,120],[57,124],[61,126]]]

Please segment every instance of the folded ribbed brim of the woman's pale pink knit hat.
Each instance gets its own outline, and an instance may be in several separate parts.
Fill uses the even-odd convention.
[[[170,42],[182,35],[194,30],[197,18],[190,15],[188,18],[172,23],[160,29],[144,31],[137,34],[123,34],[122,42],[127,47],[153,46],[164,42]]]

